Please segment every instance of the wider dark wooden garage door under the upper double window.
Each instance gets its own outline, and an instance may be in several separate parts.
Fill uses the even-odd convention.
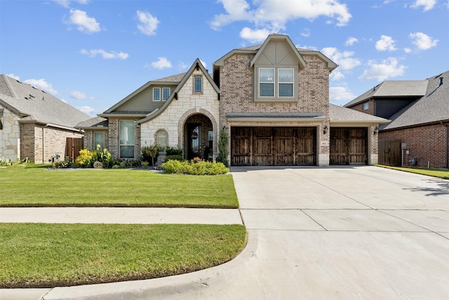
[[[232,166],[314,166],[316,127],[232,127]]]

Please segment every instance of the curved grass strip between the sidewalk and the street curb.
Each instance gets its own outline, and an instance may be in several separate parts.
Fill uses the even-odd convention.
[[[0,288],[177,275],[225,263],[245,244],[240,225],[0,223]]]

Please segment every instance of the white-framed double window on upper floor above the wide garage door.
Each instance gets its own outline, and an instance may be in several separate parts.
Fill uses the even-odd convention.
[[[293,100],[295,91],[295,69],[260,67],[258,70],[259,100]]]

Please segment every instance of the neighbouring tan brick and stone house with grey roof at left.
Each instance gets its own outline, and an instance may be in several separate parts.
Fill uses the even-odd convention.
[[[45,91],[0,75],[0,159],[64,159],[71,150],[67,139],[82,142],[74,126],[89,118]]]

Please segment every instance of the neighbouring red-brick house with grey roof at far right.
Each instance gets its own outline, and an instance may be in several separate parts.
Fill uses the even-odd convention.
[[[449,71],[384,81],[344,106],[391,119],[379,126],[380,163],[449,168]]]

